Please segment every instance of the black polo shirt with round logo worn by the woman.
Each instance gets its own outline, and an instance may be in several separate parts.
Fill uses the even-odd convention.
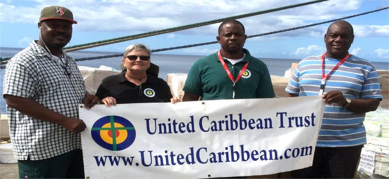
[[[100,100],[113,97],[117,104],[170,102],[172,94],[165,80],[148,75],[147,80],[137,86],[124,75],[122,72],[103,79],[95,95]]]

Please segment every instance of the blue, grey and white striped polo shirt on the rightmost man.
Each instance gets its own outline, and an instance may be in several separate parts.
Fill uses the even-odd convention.
[[[324,73],[328,74],[338,62],[326,57]],[[298,96],[319,95],[321,79],[321,56],[307,57],[297,65],[285,91]],[[323,94],[335,90],[350,99],[382,99],[374,66],[354,55],[350,55],[327,77]],[[365,113],[355,113],[336,103],[326,104],[316,146],[349,147],[365,144],[364,119]]]

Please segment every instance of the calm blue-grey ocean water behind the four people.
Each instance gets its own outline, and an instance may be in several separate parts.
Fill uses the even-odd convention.
[[[23,49],[19,48],[0,48],[0,57],[12,57]],[[105,55],[120,54],[121,52],[90,52],[77,51],[69,53],[74,59],[85,57],[98,57]],[[168,73],[187,73],[192,64],[204,56],[194,55],[166,55],[166,54],[152,54],[151,62],[158,65],[160,68],[159,77],[166,80]],[[292,63],[297,63],[300,59],[272,59],[257,57],[267,65],[271,75],[284,76],[285,70],[290,68]],[[122,57],[87,60],[77,62],[78,66],[87,66],[99,68],[101,65],[113,67],[120,70]],[[376,69],[388,70],[389,63],[387,62],[372,62]],[[6,69],[0,69],[0,109],[2,114],[6,114],[6,104],[3,98],[3,79]]]

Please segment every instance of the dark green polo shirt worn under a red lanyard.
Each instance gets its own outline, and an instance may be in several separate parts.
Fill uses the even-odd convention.
[[[224,60],[235,80],[240,70],[250,61],[246,72],[235,83],[228,77],[220,63],[217,53],[201,58],[190,68],[183,91],[199,95],[201,100],[273,98],[275,97],[269,70],[265,63],[254,58],[243,49],[246,57],[234,65]]]

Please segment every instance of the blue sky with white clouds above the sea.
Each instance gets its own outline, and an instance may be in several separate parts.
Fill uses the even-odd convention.
[[[310,0],[0,0],[0,47],[26,48],[39,37],[40,11],[47,6],[64,6],[73,12],[73,37],[68,46],[106,40],[230,16],[310,2]],[[247,35],[256,35],[332,19],[343,18],[389,6],[388,0],[330,0],[279,12],[237,19]],[[389,62],[389,11],[382,10],[346,21],[354,27],[349,50],[373,62]],[[122,53],[133,43],[150,49],[216,41],[220,23],[134,39],[87,49]],[[330,23],[260,37],[245,43],[259,58],[302,59],[325,52],[324,34]],[[217,52],[220,44],[158,52],[201,55]],[[1,53],[1,52],[0,52]]]

